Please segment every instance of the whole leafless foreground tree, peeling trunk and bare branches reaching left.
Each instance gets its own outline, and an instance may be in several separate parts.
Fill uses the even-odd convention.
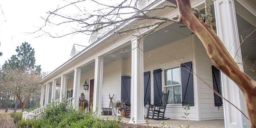
[[[93,34],[96,37],[101,37],[104,34],[113,34],[116,39],[122,35],[129,34],[138,36],[140,39],[154,32],[162,24],[170,22],[183,23],[201,40],[214,66],[238,85],[246,100],[250,125],[252,128],[256,128],[256,82],[240,70],[220,38],[214,32],[210,13],[212,0],[205,0],[205,14],[200,14],[199,10],[191,8],[190,0],[167,1],[170,4],[142,8],[141,4],[147,4],[152,1],[123,0],[115,4],[107,0],[77,0],[58,7],[54,11],[49,11],[48,17],[44,18],[44,26],[34,33],[43,32],[43,34],[54,38],[77,33]],[[83,5],[93,6],[94,10],[87,10],[83,8]],[[74,6],[79,11],[79,14],[72,15],[68,13],[67,10],[70,6]],[[179,15],[169,18],[153,13],[168,8],[178,8]],[[198,17],[194,13],[197,13]],[[54,28],[64,26],[65,29],[52,32],[53,29],[49,29],[48,26]],[[143,32],[148,28],[150,28],[149,32]],[[71,31],[68,31],[70,29]]]

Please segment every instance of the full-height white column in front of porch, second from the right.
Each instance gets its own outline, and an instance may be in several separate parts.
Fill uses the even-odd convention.
[[[146,123],[144,120],[144,74],[143,74],[143,40],[132,41],[132,79],[131,79],[131,119],[129,123]]]

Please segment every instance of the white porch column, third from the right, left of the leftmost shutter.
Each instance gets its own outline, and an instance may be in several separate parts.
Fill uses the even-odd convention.
[[[95,58],[94,69],[94,92],[93,92],[93,112],[98,108],[98,114],[101,114],[102,106],[102,79],[103,79],[103,58]]]

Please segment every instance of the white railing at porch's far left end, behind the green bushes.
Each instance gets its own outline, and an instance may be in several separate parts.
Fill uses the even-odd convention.
[[[68,106],[70,106],[71,104],[72,104],[72,102],[73,102],[73,99],[74,99],[74,97],[71,97],[71,98],[68,98],[67,100],[66,100],[66,102],[67,102],[67,104],[68,104]],[[58,100],[54,100],[54,102],[53,102],[53,104],[56,104],[56,105],[58,105],[58,104],[60,104],[60,99],[58,99]],[[22,119],[32,119],[32,118],[38,118],[38,116],[42,113],[42,112],[44,112],[44,108],[45,108],[46,106],[42,106],[42,107],[40,107],[40,108],[37,108],[37,109],[35,109],[35,110],[33,110],[33,111],[31,111],[31,112],[22,112]]]

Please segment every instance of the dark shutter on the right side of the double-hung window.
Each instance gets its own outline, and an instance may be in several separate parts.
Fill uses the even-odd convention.
[[[192,62],[180,64],[181,70],[181,90],[182,90],[182,106],[188,104],[194,106],[194,88]]]

